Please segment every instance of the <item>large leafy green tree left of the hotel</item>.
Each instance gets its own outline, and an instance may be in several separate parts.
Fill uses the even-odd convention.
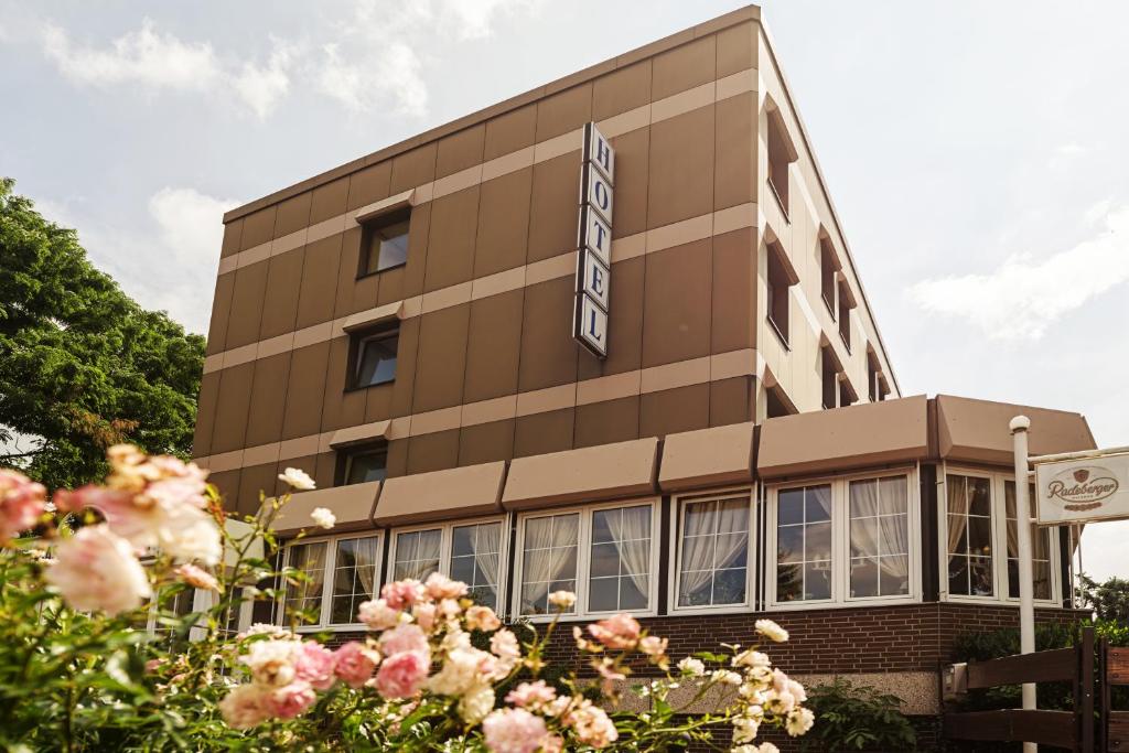
[[[186,456],[204,339],[141,308],[14,186],[0,178],[0,466],[54,489],[102,478],[120,441]]]

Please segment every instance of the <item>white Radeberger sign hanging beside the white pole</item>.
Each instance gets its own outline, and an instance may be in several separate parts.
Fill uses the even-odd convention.
[[[1129,453],[1039,463],[1035,458],[1039,523],[1129,518]]]

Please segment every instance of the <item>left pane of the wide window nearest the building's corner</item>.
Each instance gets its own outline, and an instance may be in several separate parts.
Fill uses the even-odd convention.
[[[777,496],[777,601],[831,598],[831,485]]]

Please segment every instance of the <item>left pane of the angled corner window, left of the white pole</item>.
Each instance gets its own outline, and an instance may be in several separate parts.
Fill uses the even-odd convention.
[[[961,596],[995,594],[992,573],[991,480],[949,473],[948,593]]]

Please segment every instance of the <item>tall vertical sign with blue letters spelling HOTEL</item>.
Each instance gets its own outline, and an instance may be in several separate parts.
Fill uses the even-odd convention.
[[[588,123],[584,126],[584,163],[580,166],[572,336],[598,358],[607,357],[614,185],[615,151],[596,124]]]

